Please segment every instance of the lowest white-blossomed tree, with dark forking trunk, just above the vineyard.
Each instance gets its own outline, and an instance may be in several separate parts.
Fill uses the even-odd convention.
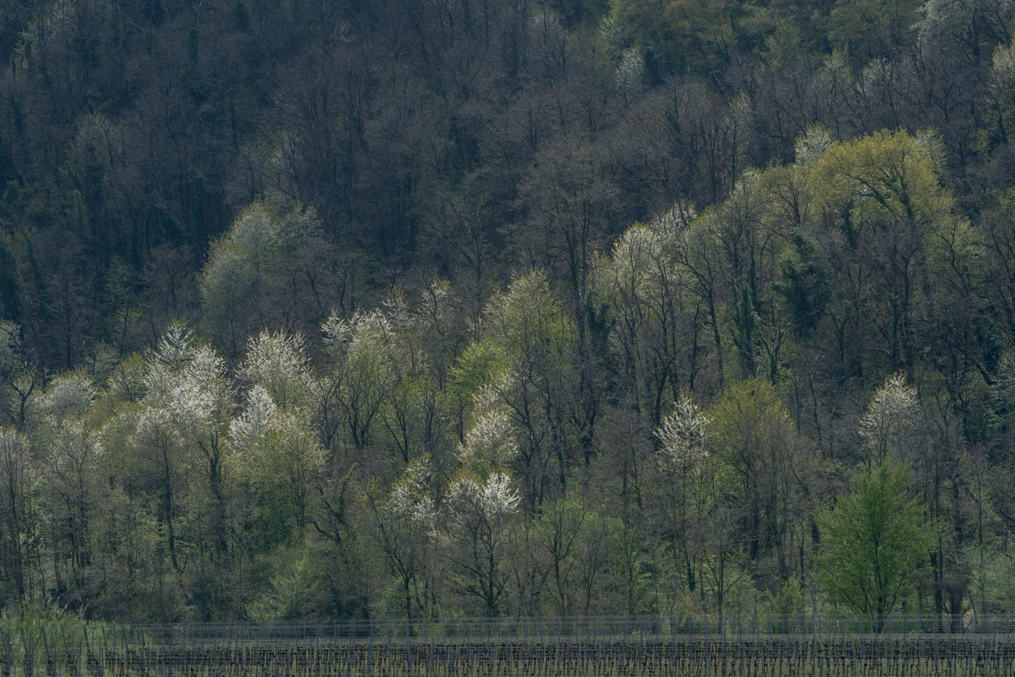
[[[505,473],[491,473],[485,482],[460,477],[449,488],[447,504],[445,533],[454,582],[460,593],[479,601],[484,615],[495,616],[507,592],[503,562],[518,492]]]

